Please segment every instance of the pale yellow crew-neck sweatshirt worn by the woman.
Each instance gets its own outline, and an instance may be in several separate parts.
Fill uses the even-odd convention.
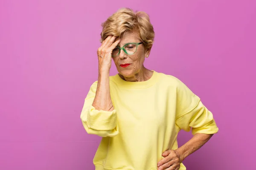
[[[97,82],[81,112],[89,134],[102,136],[93,159],[96,170],[157,170],[162,153],[177,149],[177,134],[218,132],[212,113],[179,79],[157,73],[144,82],[110,77],[113,111],[93,106]],[[180,170],[186,170],[181,163]]]

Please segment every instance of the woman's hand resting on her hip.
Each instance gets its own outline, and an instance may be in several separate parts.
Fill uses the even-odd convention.
[[[163,158],[157,163],[157,170],[179,170],[180,154],[176,150],[166,150],[162,154]]]

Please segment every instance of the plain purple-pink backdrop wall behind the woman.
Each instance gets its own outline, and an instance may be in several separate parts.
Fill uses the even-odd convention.
[[[94,169],[101,138],[80,113],[97,79],[100,24],[120,7],[151,17],[145,66],[178,77],[214,114],[219,133],[186,167],[255,169],[255,0],[1,0],[0,170]],[[179,144],[191,137],[181,132]]]

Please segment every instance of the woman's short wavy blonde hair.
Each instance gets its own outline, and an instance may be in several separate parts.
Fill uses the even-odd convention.
[[[101,42],[109,35],[121,37],[127,31],[137,32],[145,48],[151,49],[154,42],[154,28],[148,14],[143,11],[134,12],[130,8],[120,8],[102,23]]]

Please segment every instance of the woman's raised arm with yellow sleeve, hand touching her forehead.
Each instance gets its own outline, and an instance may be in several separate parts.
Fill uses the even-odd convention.
[[[109,85],[111,53],[119,43],[119,40],[113,43],[114,40],[115,37],[109,36],[98,49],[98,81],[90,87],[80,116],[87,133],[102,137],[113,137],[119,133]]]

